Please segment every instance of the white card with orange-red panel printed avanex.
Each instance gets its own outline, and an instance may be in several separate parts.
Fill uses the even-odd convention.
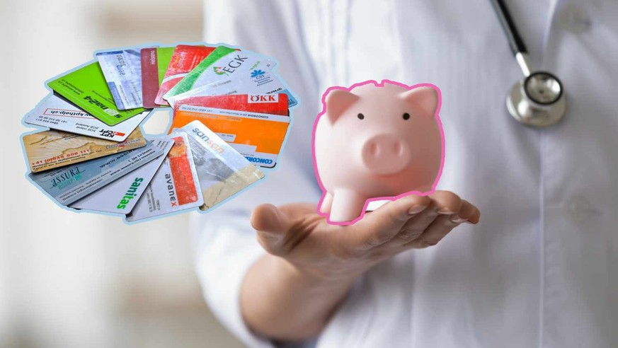
[[[204,204],[187,134],[171,134],[166,139],[173,139],[172,149],[135,208],[127,214],[126,220],[129,222],[193,209]]]

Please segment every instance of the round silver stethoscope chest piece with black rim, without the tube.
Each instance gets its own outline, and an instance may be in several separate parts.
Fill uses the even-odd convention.
[[[560,122],[566,112],[563,85],[553,74],[534,72],[515,83],[506,98],[506,108],[522,124],[549,127]]]

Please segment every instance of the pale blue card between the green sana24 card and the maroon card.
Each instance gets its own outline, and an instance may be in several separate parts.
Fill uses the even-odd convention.
[[[139,50],[96,52],[118,110],[142,108],[142,59]]]

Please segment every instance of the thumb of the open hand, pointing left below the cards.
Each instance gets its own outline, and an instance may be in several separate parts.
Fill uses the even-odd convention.
[[[290,230],[290,219],[273,204],[260,204],[251,213],[251,226],[258,233],[262,247],[273,255],[285,253],[285,236]]]

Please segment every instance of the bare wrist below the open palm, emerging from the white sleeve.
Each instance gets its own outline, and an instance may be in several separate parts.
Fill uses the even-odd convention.
[[[242,318],[259,335],[276,340],[306,340],[324,329],[355,279],[357,276],[325,276],[266,254],[244,279]]]

